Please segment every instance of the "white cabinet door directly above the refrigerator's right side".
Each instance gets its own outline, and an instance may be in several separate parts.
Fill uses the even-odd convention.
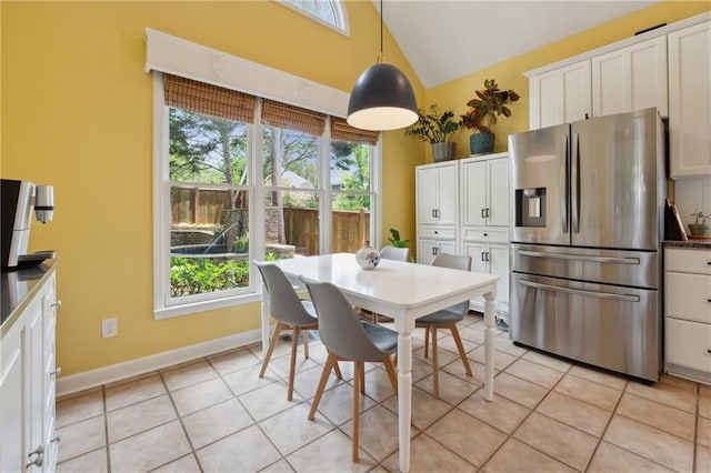
[[[668,117],[667,38],[652,38],[592,58],[592,114],[657,107]]]

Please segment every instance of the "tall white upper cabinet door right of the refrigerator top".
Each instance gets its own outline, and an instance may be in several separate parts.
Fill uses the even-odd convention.
[[[669,34],[671,178],[711,174],[711,22]]]

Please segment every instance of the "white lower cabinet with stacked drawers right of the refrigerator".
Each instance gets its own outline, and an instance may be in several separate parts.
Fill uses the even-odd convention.
[[[711,250],[664,250],[664,371],[711,384]]]

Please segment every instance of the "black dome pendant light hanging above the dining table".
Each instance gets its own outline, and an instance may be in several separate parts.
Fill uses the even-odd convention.
[[[356,81],[348,102],[348,123],[363,130],[384,131],[409,127],[418,120],[412,85],[404,73],[385,63],[382,53],[382,0],[380,0],[380,54]]]

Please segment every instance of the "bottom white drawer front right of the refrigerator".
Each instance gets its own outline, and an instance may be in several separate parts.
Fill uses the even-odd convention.
[[[667,319],[667,363],[711,373],[711,325]]]

